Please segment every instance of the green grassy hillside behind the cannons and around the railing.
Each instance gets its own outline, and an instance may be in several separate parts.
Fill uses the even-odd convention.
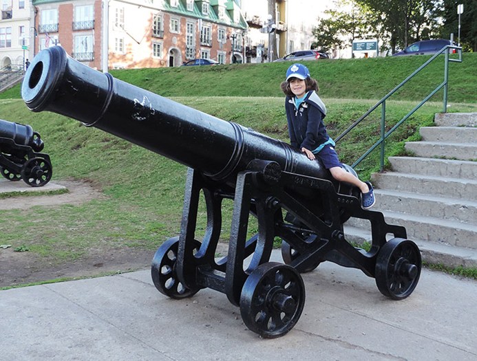
[[[326,123],[332,137],[359,118],[424,57],[317,61],[307,63],[319,80],[320,95],[328,107]],[[180,67],[114,71],[116,78],[200,109],[218,118],[237,122],[259,132],[288,140],[284,97],[279,84],[290,63]],[[477,111],[476,54],[465,54],[463,63],[450,66],[451,111]],[[389,129],[442,81],[443,61],[423,74],[410,89],[387,102]],[[433,86],[434,85],[434,86]],[[431,87],[431,89],[428,89]],[[0,118],[30,124],[41,133],[45,153],[52,158],[53,180],[81,179],[107,196],[81,206],[36,207],[0,211],[2,244],[24,245],[32,262],[64,264],[81,261],[92,252],[118,248],[153,251],[178,234],[186,168],[139,146],[53,113],[32,113],[19,96],[19,87],[0,94]],[[416,139],[416,130],[432,124],[442,111],[442,92],[425,105],[387,144],[387,154],[403,153],[403,141]],[[343,162],[351,164],[379,138],[381,113],[375,111],[359,130],[338,144]],[[375,152],[376,153],[376,152]],[[359,165],[366,179],[376,171],[378,154]],[[3,201],[0,199],[0,201]],[[198,237],[204,228],[198,221]],[[224,221],[224,239],[229,224]],[[53,225],[53,226],[52,226]],[[201,226],[202,225],[202,226]],[[151,252],[152,256],[153,252]]]

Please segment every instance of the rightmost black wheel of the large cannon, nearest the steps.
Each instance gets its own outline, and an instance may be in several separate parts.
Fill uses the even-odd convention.
[[[391,239],[377,256],[375,278],[379,291],[394,300],[406,298],[416,288],[421,266],[416,243],[409,239]]]

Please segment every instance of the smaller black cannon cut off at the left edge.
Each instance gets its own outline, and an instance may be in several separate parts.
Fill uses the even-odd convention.
[[[0,119],[0,172],[11,181],[23,179],[32,186],[44,186],[52,178],[50,156],[38,153],[43,140],[30,125]]]

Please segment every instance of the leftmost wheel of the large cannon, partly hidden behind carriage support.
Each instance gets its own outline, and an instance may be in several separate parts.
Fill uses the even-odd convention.
[[[195,250],[199,250],[200,242],[194,242]],[[171,298],[191,297],[199,291],[199,287],[189,289],[179,282],[176,272],[179,237],[173,237],[162,243],[151,265],[152,281],[161,294]]]

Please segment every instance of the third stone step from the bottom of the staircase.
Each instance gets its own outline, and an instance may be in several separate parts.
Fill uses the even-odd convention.
[[[477,201],[383,189],[374,194],[376,209],[472,223],[477,229]]]

